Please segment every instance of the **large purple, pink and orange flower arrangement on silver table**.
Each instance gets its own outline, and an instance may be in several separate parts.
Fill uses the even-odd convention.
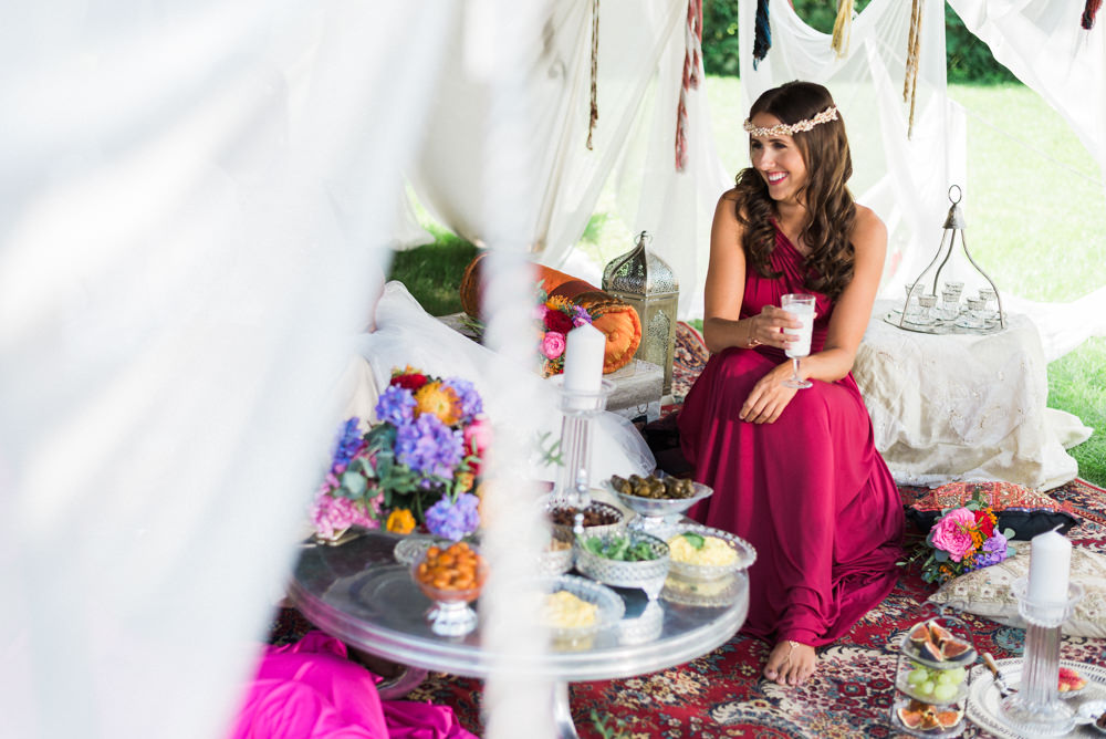
[[[349,418],[311,506],[317,539],[353,527],[430,533],[459,541],[480,524],[480,464],[491,438],[472,383],[394,370],[377,421]]]

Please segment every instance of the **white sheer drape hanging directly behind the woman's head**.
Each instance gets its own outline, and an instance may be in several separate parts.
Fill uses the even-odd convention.
[[[825,85],[842,112],[853,156],[849,189],[887,225],[880,294],[898,296],[937,250],[948,212],[948,189],[966,185],[962,112],[946,102],[945,9],[928,2],[921,19],[914,133],[902,100],[910,3],[873,0],[853,20],[847,54],[838,59],[831,37],[815,31],[790,3],[772,0],[772,48],[752,65],[755,0],[742,0],[739,41],[741,86],[752,104],[791,80]]]

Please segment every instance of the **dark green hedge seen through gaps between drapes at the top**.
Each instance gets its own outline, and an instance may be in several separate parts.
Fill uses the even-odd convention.
[[[864,10],[868,1],[856,0],[854,12]],[[822,33],[833,33],[837,0],[794,0],[793,4],[795,13],[807,25]],[[702,28],[702,63],[707,74],[738,76],[738,0],[706,0]],[[945,6],[945,43],[949,82],[995,84],[1015,81],[948,4]]]

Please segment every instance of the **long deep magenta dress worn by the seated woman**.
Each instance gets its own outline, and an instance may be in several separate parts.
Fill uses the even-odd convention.
[[[803,257],[780,231],[778,279],[750,269],[741,318],[803,287]],[[833,303],[817,295],[811,351],[822,350]],[[818,646],[847,632],[895,586],[902,504],[873,443],[852,374],[800,389],[772,424],[740,420],[745,397],[781,350],[727,348],[711,356],[679,414],[695,479],[714,495],[691,511],[757,549],[743,632]]]

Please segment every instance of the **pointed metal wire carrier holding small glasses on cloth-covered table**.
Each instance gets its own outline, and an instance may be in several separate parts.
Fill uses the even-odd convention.
[[[914,282],[906,283],[906,302],[902,303],[901,310],[894,310],[884,316],[887,323],[907,331],[929,334],[991,334],[1006,327],[1006,314],[1002,310],[999,289],[968,251],[968,242],[964,240],[964,216],[960,207],[961,195],[958,185],[949,188],[949,200],[952,206],[945,219],[945,232],[941,235],[937,254]],[[941,271],[946,267],[950,268],[950,272],[953,266],[959,267],[949,263],[957,251],[958,235],[963,256],[974,268],[975,273],[982,277],[982,280],[975,279],[978,293],[974,296],[971,291],[964,292],[963,280],[949,279],[949,273],[946,273],[946,281],[941,282]],[[961,301],[962,294],[964,301]],[[994,310],[991,310],[991,303],[994,303]]]

